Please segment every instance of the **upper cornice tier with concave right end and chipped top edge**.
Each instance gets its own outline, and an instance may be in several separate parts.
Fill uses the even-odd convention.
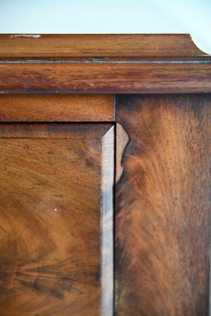
[[[189,34],[2,34],[0,58],[204,56]]]

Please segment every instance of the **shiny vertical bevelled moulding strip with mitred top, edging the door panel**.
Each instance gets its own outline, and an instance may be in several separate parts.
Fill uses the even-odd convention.
[[[102,137],[101,163],[101,316],[113,316],[114,302],[114,129]]]

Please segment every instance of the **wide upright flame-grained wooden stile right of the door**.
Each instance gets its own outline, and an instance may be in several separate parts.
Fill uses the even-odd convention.
[[[116,315],[208,315],[211,95],[120,95]]]

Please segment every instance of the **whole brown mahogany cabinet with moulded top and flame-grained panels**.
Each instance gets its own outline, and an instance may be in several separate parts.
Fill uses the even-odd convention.
[[[1,315],[209,315],[211,56],[188,34],[0,43]]]

